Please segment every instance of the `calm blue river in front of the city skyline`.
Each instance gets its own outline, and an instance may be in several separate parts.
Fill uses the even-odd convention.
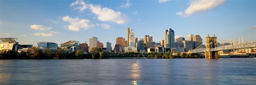
[[[0,84],[256,84],[256,58],[0,60]]]

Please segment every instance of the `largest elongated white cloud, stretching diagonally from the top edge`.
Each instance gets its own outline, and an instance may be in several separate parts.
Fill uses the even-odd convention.
[[[100,21],[112,21],[117,24],[124,24],[129,21],[125,14],[121,12],[116,12],[107,7],[101,7],[100,5],[86,4],[84,1],[77,0],[70,4],[70,6],[76,6],[75,10],[83,12],[85,9],[89,8],[91,12],[98,16]]]

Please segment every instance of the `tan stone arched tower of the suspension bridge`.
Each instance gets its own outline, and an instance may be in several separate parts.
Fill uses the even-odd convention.
[[[206,59],[212,59],[218,58],[218,52],[217,51],[211,51],[211,48],[217,47],[217,37],[213,35],[213,37],[210,37],[209,35],[206,36],[206,49],[205,49],[205,58]]]

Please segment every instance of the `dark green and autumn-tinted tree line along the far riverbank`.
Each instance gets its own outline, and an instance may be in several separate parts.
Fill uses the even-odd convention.
[[[6,50],[0,52],[0,59],[104,59],[104,58],[122,58],[122,57],[144,57],[144,58],[204,58],[200,54],[187,54],[180,53],[173,55],[172,53],[110,53],[100,50],[98,48],[92,48],[91,52],[84,54],[83,50],[77,50],[76,52],[65,52],[62,49],[57,49],[52,52],[49,48],[40,50],[38,47],[31,47],[27,52],[14,52],[13,50]]]

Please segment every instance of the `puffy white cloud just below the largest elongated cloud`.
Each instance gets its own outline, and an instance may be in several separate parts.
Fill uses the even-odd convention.
[[[63,16],[62,20],[69,23],[67,27],[69,30],[72,31],[79,31],[81,28],[87,30],[88,28],[92,27],[92,25],[89,24],[90,20],[86,19],[70,18],[69,16]]]

